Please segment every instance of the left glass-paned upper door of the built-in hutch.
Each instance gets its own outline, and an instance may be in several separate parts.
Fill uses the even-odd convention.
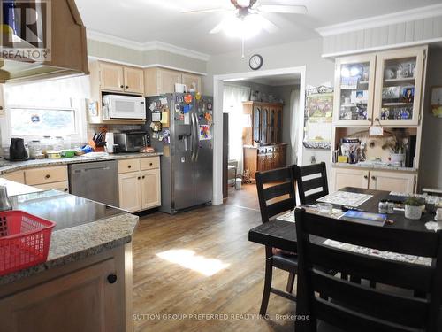
[[[335,68],[334,121],[338,125],[371,125],[375,55],[339,58]]]

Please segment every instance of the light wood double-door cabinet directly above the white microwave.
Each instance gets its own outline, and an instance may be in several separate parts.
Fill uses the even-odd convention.
[[[93,70],[92,66],[91,70]],[[116,91],[142,95],[144,91],[143,70],[136,67],[121,66],[100,61],[100,88],[104,91]],[[91,84],[96,84],[95,81]]]

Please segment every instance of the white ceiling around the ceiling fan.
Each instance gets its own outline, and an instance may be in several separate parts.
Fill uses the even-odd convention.
[[[230,0],[75,0],[89,30],[133,42],[167,42],[207,54],[240,51],[240,40],[209,31],[224,17],[223,12],[183,14],[182,10],[219,7]],[[315,28],[401,12],[440,0],[261,0],[262,4],[303,4],[307,15],[266,14],[279,29],[261,32],[246,47],[296,42],[316,37]]]

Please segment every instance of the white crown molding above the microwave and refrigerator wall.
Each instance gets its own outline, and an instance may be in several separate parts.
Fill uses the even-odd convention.
[[[146,51],[146,50],[164,50],[166,52],[179,54],[187,58],[196,58],[202,61],[209,61],[210,55],[196,50],[188,50],[183,47],[175,46],[167,42],[134,42],[125,38],[120,38],[115,35],[104,34],[99,31],[87,30],[87,38],[96,42],[105,42],[111,45],[126,47],[131,50]]]

